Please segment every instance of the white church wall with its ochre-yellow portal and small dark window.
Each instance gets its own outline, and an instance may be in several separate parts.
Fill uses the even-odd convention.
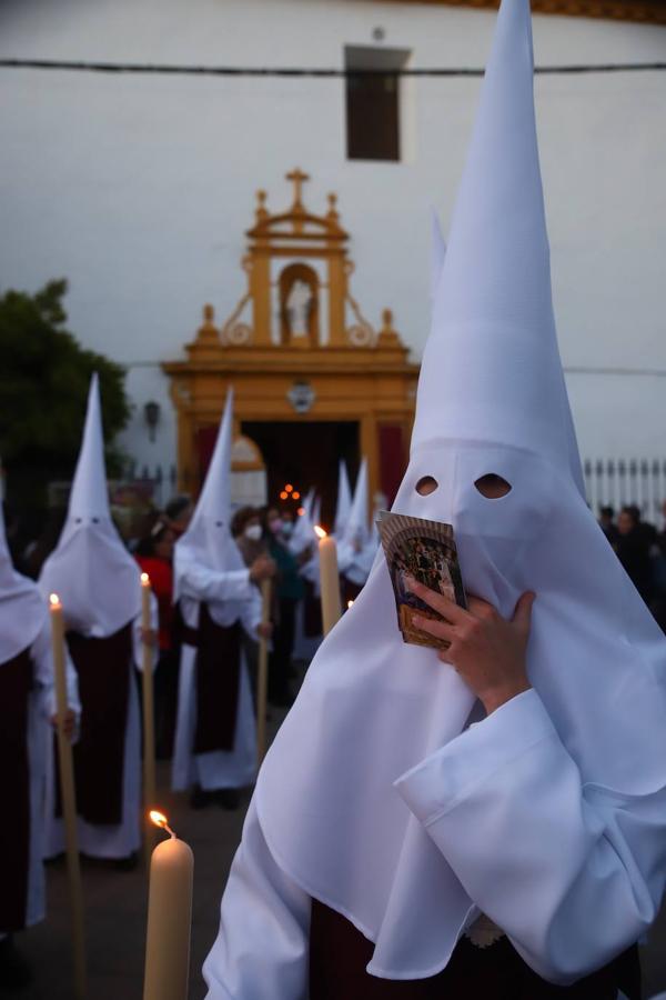
[[[582,452],[652,462],[666,419],[664,3],[535,10]],[[2,287],[68,278],[70,329],[127,368],[121,443],[139,469],[176,466],[195,489],[233,383],[248,471],[270,467],[281,427],[291,452],[337,449],[352,468],[367,453],[390,494],[430,324],[431,206],[445,233],[494,18],[435,0],[2,6],[0,57],[22,63],[0,67]],[[287,236],[299,204],[317,221]]]

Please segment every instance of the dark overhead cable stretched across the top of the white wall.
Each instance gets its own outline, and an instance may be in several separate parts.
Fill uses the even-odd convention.
[[[425,69],[317,69],[316,67],[181,66],[163,62],[91,62],[67,59],[0,59],[2,69],[67,70],[79,73],[135,73],[184,77],[307,77],[345,79],[359,77],[483,77],[472,67],[431,67]],[[581,73],[663,72],[666,62],[602,62],[572,66],[537,66],[537,76]]]

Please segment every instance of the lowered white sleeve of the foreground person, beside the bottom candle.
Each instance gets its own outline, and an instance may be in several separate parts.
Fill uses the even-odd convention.
[[[252,801],[203,963],[206,1000],[305,1000],[310,904],[273,860]]]

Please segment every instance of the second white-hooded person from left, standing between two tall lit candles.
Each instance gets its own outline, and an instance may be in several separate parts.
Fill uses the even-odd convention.
[[[79,846],[93,858],[125,859],[140,844],[141,727],[134,667],[142,662],[141,583],[139,568],[111,520],[97,374],[67,520],[39,587],[44,599],[57,593],[62,601],[67,644],[79,679]],[[54,759],[50,774],[47,857],[64,850]]]

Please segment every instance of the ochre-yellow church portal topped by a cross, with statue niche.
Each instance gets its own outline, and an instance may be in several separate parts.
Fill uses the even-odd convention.
[[[286,211],[272,214],[259,191],[242,259],[246,289],[220,327],[212,306],[185,344],[186,361],[164,363],[178,413],[181,489],[195,492],[208,466],[224,396],[235,390],[238,434],[255,446],[250,470],[265,471],[265,499],[280,502],[284,481],[323,498],[331,520],[337,460],[352,476],[366,456],[371,497],[390,502],[407,459],[417,366],[393,329],[389,309],[377,328],[350,289],[354,264],[336,196],[317,216],[305,208],[306,173]],[[262,466],[263,463],[263,466]],[[238,499],[251,499],[241,489]]]

